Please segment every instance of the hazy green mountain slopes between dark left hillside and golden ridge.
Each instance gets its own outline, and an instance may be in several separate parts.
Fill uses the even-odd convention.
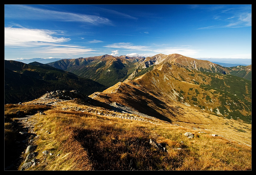
[[[72,72],[80,77],[85,77],[105,86],[113,86],[125,80],[134,70],[134,57],[111,55],[95,56],[79,59],[64,59],[48,63],[55,68]]]

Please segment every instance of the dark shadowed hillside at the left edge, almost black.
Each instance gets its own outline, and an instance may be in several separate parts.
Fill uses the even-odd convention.
[[[93,80],[39,62],[5,60],[5,103],[29,101],[47,91],[78,90],[88,96],[104,89]]]

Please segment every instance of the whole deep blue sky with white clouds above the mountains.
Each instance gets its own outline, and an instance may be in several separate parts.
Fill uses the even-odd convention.
[[[5,5],[5,59],[251,59],[251,5]]]

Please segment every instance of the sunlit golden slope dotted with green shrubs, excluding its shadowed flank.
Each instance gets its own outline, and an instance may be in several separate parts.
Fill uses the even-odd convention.
[[[251,123],[250,80],[164,64],[133,81],[139,84],[134,87],[143,88],[142,91],[150,92],[166,104],[175,99],[221,117]]]

